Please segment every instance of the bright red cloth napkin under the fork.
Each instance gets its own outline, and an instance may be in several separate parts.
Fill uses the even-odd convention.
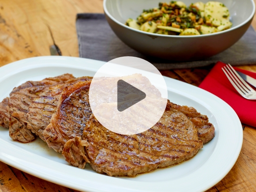
[[[256,101],[250,101],[238,94],[221,69],[225,65],[217,62],[199,87],[226,101],[235,110],[242,123],[256,127]],[[236,67],[234,69],[256,79],[255,72]]]

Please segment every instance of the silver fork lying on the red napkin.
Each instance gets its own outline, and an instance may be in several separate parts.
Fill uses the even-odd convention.
[[[230,64],[222,67],[222,71],[241,96],[249,100],[256,100],[256,91],[238,75]]]

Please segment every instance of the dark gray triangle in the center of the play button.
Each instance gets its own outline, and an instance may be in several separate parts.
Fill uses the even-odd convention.
[[[117,110],[122,112],[146,98],[146,94],[124,80],[117,81]]]

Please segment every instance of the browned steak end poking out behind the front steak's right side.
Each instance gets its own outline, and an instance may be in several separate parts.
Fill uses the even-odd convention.
[[[209,123],[208,117],[197,112],[193,107],[176,105],[170,103],[173,108],[183,112],[188,119],[196,126],[198,130],[198,138],[203,141],[203,144],[210,141],[215,136],[215,128]]]

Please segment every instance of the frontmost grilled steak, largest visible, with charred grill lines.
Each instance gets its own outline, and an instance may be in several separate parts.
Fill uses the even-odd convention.
[[[140,134],[116,134],[92,115],[82,139],[69,140],[62,154],[80,168],[87,162],[98,173],[134,177],[192,158],[203,147],[197,132],[188,117],[168,102],[158,123]]]

